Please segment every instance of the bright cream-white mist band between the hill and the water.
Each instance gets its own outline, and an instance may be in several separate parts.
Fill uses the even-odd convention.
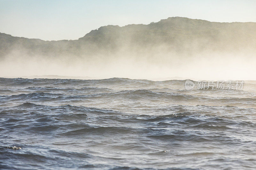
[[[92,58],[48,58],[47,56],[9,56],[1,61],[1,77],[35,77],[58,75],[87,78],[194,80],[255,80],[253,54],[196,53],[180,56],[166,51],[148,51],[146,54],[113,54]],[[36,78],[36,77],[35,77]],[[58,78],[52,77],[52,78]]]

